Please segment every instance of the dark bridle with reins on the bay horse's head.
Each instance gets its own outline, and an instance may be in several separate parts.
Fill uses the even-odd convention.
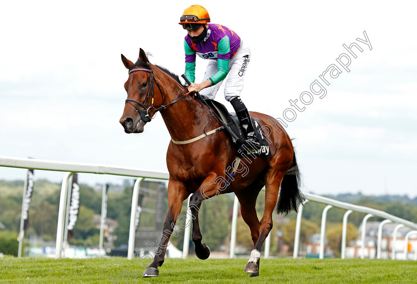
[[[141,102],[139,102],[139,101],[137,101],[137,100],[134,100],[134,99],[130,99],[129,98],[129,96],[130,96],[130,88],[131,88],[131,85],[132,85],[132,77],[133,77],[133,75],[132,75],[132,73],[133,72],[136,72],[136,71],[144,71],[144,72],[148,72],[149,74],[150,74],[150,78],[149,78],[149,88],[148,88],[148,93],[147,93],[147,95],[146,95],[146,99],[145,99],[145,101],[143,102],[143,103],[141,103]],[[132,69],[132,70],[129,70],[129,76],[130,76],[130,78],[129,78],[129,89],[128,89],[128,98],[126,99],[126,101],[125,101],[125,104],[126,103],[129,103],[129,104],[131,104],[132,106],[134,106],[135,107],[135,109],[139,112],[139,114],[140,114],[140,118],[143,120],[143,122],[149,122],[151,119],[153,119],[154,118],[154,116],[155,116],[155,114],[157,113],[157,112],[159,112],[160,110],[162,110],[162,109],[165,109],[166,107],[168,107],[168,106],[170,106],[170,105],[173,105],[173,104],[175,104],[175,103],[177,103],[177,102],[179,102],[179,101],[181,101],[182,99],[185,99],[191,92],[188,92],[188,93],[186,93],[186,94],[184,94],[184,95],[182,95],[181,97],[179,97],[179,98],[177,98],[177,99],[175,99],[175,100],[173,100],[171,103],[169,103],[169,104],[167,104],[167,105],[161,105],[159,108],[156,108],[155,109],[155,107],[153,106],[153,97],[154,97],[154,95],[155,95],[155,92],[154,92],[154,89],[155,89],[155,87],[154,87],[154,85],[155,85],[155,83],[154,82],[156,82],[156,85],[158,86],[158,89],[159,89],[159,92],[161,93],[161,96],[162,96],[162,102],[163,102],[163,92],[162,92],[162,89],[161,89],[161,87],[159,86],[159,83],[158,83],[158,81],[154,78],[154,76],[153,76],[153,71],[152,70],[149,70],[149,69],[143,69],[143,68],[134,68],[134,69]],[[151,99],[151,102],[150,102],[150,107],[149,108],[146,108],[146,106],[145,106],[145,104],[146,104],[146,102],[147,102],[147,100],[149,99],[149,95],[151,95],[152,96],[152,99]],[[142,109],[140,109],[137,105],[135,105],[135,104],[137,104],[137,105],[139,105],[139,107],[142,107],[143,108],[143,110]],[[153,117],[150,115],[150,112],[149,112],[149,110],[150,109],[153,109],[154,111],[155,111],[155,113],[154,113],[154,115],[153,115]]]

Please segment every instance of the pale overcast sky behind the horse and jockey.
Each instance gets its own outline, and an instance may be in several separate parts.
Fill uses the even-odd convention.
[[[139,48],[184,73],[178,25],[190,1],[6,1],[0,9],[0,156],[166,170],[170,140],[160,115],[142,134],[119,124]],[[242,100],[249,110],[296,118],[286,128],[304,178],[317,194],[417,195],[416,1],[207,1],[211,22],[252,51]],[[372,47],[365,40],[364,31]],[[353,48],[349,72],[336,61]],[[346,59],[346,58],[345,58]],[[326,96],[300,99],[331,64]],[[197,59],[197,80],[207,60]],[[326,76],[326,75],[325,75]],[[329,76],[329,75],[327,75]],[[305,100],[308,97],[303,97]],[[225,103],[223,88],[216,100]],[[286,113],[290,117],[290,113]],[[0,179],[25,170],[0,168]],[[36,171],[60,181],[62,172]],[[79,182],[123,177],[81,174]]]

